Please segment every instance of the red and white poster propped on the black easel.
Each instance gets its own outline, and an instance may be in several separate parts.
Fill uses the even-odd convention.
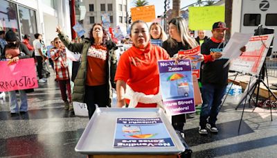
[[[273,37],[274,34],[252,36],[246,45],[247,50],[232,60],[230,70],[258,75]]]

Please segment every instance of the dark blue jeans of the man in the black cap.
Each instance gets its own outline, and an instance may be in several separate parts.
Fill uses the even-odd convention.
[[[202,85],[202,109],[200,112],[200,125],[206,126],[208,123],[217,121],[217,114],[220,112],[220,104],[225,94],[226,86],[218,87],[211,84]]]

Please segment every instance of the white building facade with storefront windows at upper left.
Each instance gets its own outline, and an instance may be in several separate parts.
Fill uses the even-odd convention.
[[[68,0],[0,0],[0,30],[13,30],[22,40],[25,34],[34,39],[43,35],[49,45],[57,37],[56,26],[71,37]]]

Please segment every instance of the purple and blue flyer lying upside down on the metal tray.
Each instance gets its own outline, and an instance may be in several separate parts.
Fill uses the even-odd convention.
[[[157,118],[117,118],[114,148],[173,147],[166,126]]]

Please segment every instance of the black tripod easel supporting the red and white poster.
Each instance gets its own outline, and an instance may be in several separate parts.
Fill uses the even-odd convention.
[[[266,32],[265,30],[267,30],[268,33],[265,33]],[[254,35],[266,35],[266,34],[274,33],[274,30],[272,32],[271,31],[272,31],[272,29],[262,28],[262,25],[259,25],[258,28],[255,30],[255,34]],[[273,44],[273,40],[272,40],[272,42],[271,42],[271,44],[269,46],[269,49],[267,50],[267,56],[271,54],[271,50],[270,49],[272,48],[272,44]],[[265,77],[267,78],[267,84],[265,84],[265,82],[264,82]],[[244,114],[245,105],[247,103],[247,96],[250,96],[250,98],[249,98],[249,105],[250,105],[252,96],[253,96],[256,88],[258,88],[258,89],[257,89],[257,94],[256,94],[255,107],[254,107],[253,111],[258,106],[258,98],[259,98],[260,83],[261,82],[267,88],[267,91],[268,91],[268,94],[269,94],[269,99],[270,99],[271,96],[273,96],[277,100],[277,96],[271,91],[271,89],[269,89],[269,81],[268,81],[268,76],[267,76],[267,64],[266,64],[266,60],[262,64],[262,68],[260,70],[258,78],[256,79],[256,82],[254,83],[253,86],[251,86],[251,78],[250,78],[250,80],[249,80],[249,88],[247,88],[247,94],[240,100],[240,103],[238,103],[238,106],[240,106],[241,103],[244,100],[244,105],[243,105],[243,109],[242,109],[242,116],[240,118],[240,125],[242,123],[242,117],[243,117],[243,114]],[[271,94],[271,96],[270,96],[270,94]],[[238,106],[235,109],[238,109]],[[272,119],[272,105],[271,105],[271,103],[269,103],[269,108],[270,108],[271,121],[272,121],[273,119]],[[238,133],[240,133],[240,125],[239,125],[239,128],[238,128]]]

